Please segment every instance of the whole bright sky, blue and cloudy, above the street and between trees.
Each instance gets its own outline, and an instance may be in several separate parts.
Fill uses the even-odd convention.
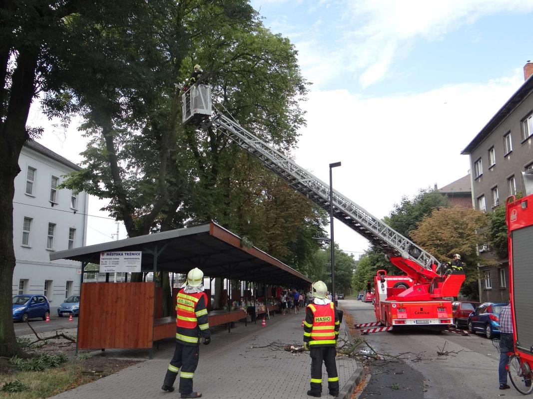
[[[467,174],[462,149],[523,84],[533,60],[533,0],[253,0],[264,24],[288,37],[303,76],[313,82],[308,126],[293,156],[381,218],[402,196],[443,187]],[[34,107],[39,140],[80,162],[76,127],[50,126]],[[442,162],[446,159],[446,163]],[[106,204],[90,213],[106,216]],[[112,220],[89,218],[88,244],[109,240]],[[125,237],[123,227],[120,238]],[[368,243],[342,223],[343,250]]]

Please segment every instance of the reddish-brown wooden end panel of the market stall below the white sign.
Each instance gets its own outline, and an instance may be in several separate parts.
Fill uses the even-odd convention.
[[[82,285],[78,348],[151,348],[153,282],[88,282]]]

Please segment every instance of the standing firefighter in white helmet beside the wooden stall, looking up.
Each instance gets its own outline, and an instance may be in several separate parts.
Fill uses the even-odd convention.
[[[199,338],[203,337],[205,345],[211,342],[203,281],[204,273],[198,268],[192,269],[176,297],[176,348],[161,389],[172,392],[179,373],[182,398],[201,397],[192,390],[192,377],[198,366]]]

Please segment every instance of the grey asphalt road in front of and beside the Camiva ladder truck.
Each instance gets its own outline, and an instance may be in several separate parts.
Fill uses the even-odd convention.
[[[339,301],[356,322],[375,321],[374,306],[361,301]],[[410,330],[366,336],[380,353],[403,355],[400,363],[373,362],[372,377],[360,398],[487,399],[523,397],[513,387],[498,389],[499,353],[480,335],[463,337],[446,332]],[[438,356],[438,348],[455,355]],[[510,382],[509,382],[510,384]],[[511,384],[510,384],[511,385]]]

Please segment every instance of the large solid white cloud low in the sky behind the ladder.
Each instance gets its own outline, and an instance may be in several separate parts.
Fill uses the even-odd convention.
[[[522,71],[516,70],[486,84],[420,94],[365,98],[346,90],[312,92],[295,160],[325,182],[328,164],[341,161],[334,188],[382,218],[403,195],[465,176],[469,157],[461,151],[522,83]],[[336,222],[335,229],[341,225]],[[368,246],[344,226],[335,240],[345,250]]]

